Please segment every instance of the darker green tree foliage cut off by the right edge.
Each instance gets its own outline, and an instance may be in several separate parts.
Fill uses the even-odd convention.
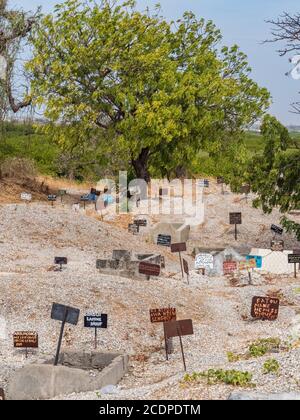
[[[253,158],[245,177],[258,194],[254,205],[261,206],[266,213],[278,207],[284,214],[283,226],[300,240],[300,224],[286,216],[300,209],[300,150],[275,117],[265,116],[261,133],[265,139],[264,152]]]

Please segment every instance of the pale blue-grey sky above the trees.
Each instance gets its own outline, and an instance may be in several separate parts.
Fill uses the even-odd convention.
[[[10,0],[10,5],[24,10],[42,6],[50,12],[60,0]],[[253,70],[252,78],[271,92],[273,104],[270,112],[283,124],[300,125],[300,115],[291,112],[290,104],[300,100],[300,79],[285,74],[293,68],[289,58],[280,57],[279,44],[262,44],[270,37],[267,19],[275,19],[284,11],[300,12],[299,0],[137,0],[137,7],[144,10],[157,3],[168,20],[178,19],[184,11],[191,10],[197,17],[212,19],[223,35],[223,44],[238,44],[248,55]]]

